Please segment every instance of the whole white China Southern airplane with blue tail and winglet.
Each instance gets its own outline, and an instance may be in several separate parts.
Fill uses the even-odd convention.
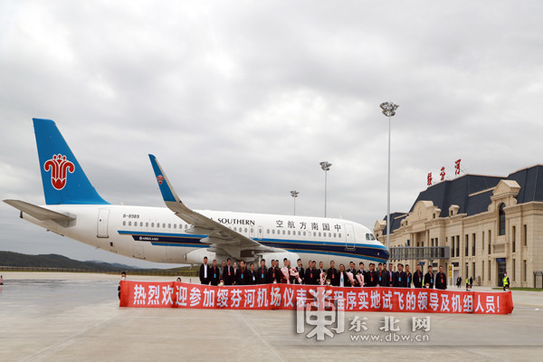
[[[50,119],[33,119],[46,205],[4,200],[21,218],[96,248],[149,262],[197,264],[207,256],[233,261],[300,258],[386,262],[389,252],[365,226],[347,220],[195,211],[176,195],[157,158],[149,155],[167,207],[110,205],[96,192]],[[269,263],[268,263],[269,265]]]

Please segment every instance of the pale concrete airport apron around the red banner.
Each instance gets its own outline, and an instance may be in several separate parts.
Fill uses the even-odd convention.
[[[118,275],[0,273],[0,361],[527,361],[543,353],[541,291],[513,291],[510,315],[348,312],[343,333],[317,341],[307,338],[309,328],[296,333],[291,310],[119,308]],[[413,317],[429,317],[431,328],[424,340],[387,341],[379,326],[393,317],[398,335],[414,336]],[[356,333],[356,319],[367,330]],[[357,335],[381,339],[353,340]]]

